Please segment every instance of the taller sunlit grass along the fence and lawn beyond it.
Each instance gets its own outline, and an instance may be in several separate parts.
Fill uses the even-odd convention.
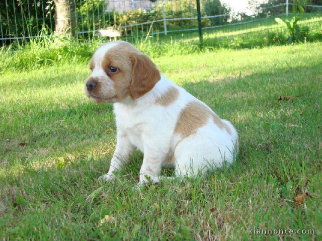
[[[286,19],[285,16],[280,16]],[[290,19],[291,16],[288,17]],[[235,23],[233,23],[235,24]],[[143,38],[124,38],[134,43],[140,50],[152,57],[176,56],[196,52],[213,51],[218,48],[258,48],[289,44],[286,28],[279,26],[275,18],[258,19],[255,22],[225,25],[215,29],[204,29],[203,50],[199,49],[198,31],[170,33],[168,36],[154,35],[145,42]],[[322,40],[321,14],[305,14],[299,21],[301,27],[307,27],[301,42]],[[69,62],[71,64],[88,61],[93,51],[102,43],[104,38],[70,40],[51,35],[47,37],[43,30],[39,38],[24,44],[15,42],[9,47],[0,48],[0,73],[6,70],[36,69],[44,65],[57,65]],[[142,34],[142,33],[141,33]],[[180,40],[180,41],[178,41]]]

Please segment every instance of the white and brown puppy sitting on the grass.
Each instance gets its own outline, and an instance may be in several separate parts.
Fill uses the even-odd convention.
[[[115,152],[102,179],[112,180],[136,148],[144,153],[140,184],[157,182],[166,164],[183,177],[232,162],[238,144],[231,123],[162,75],[131,44],[102,45],[90,68],[85,93],[97,103],[113,103],[117,125]]]

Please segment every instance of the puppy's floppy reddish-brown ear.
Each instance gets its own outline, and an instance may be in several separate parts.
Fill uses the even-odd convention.
[[[130,96],[135,100],[152,90],[160,80],[160,72],[146,54],[132,52],[130,59],[132,62]]]

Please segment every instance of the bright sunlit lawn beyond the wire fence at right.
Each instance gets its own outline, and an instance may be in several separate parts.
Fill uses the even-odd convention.
[[[286,15],[280,15],[279,17],[284,21],[291,21],[293,16],[289,15],[286,17]],[[310,30],[305,36],[307,40],[320,39],[322,30],[321,13],[299,15],[299,19],[298,25],[300,27],[307,27]],[[289,35],[287,28],[279,25],[275,21],[275,17],[251,18],[249,20],[217,26],[216,28],[213,27],[216,26],[205,26],[202,30],[205,47],[254,47],[284,44],[287,42]],[[195,25],[184,26],[182,30],[196,28],[198,28],[197,21],[195,21]],[[163,29],[159,31],[163,31]],[[153,40],[169,43],[174,39],[180,39],[182,42],[186,43],[198,43],[198,30],[180,32],[180,30],[177,29],[177,31],[178,32],[170,32],[167,36],[164,34],[154,35]],[[145,32],[139,34],[140,37],[143,35],[143,38],[141,37],[142,40],[145,39],[145,34]],[[129,41],[134,41],[135,39],[135,36],[132,38],[125,38],[125,40]]]

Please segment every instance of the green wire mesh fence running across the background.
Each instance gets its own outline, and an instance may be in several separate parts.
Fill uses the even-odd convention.
[[[198,40],[197,1],[188,0],[2,0],[0,43],[10,44],[59,31],[73,38],[117,38],[130,42]],[[275,17],[291,18],[287,0],[263,4],[252,15],[234,13],[219,0],[200,0],[203,38],[220,44],[238,36],[263,35],[268,41],[285,32]],[[300,24],[321,30],[321,5],[303,5]],[[289,16],[287,16],[289,15]],[[61,27],[63,26],[63,27]],[[65,28],[65,29],[64,29]],[[271,38],[271,40],[269,40]],[[237,43],[238,44],[238,43]]]

